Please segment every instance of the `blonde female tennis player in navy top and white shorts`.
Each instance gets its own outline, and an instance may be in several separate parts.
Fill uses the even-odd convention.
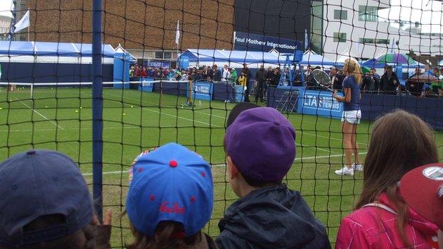
[[[344,102],[341,131],[343,133],[345,165],[335,173],[337,175],[354,175],[354,171],[363,171],[363,166],[360,164],[359,145],[356,141],[356,129],[361,119],[360,83],[362,74],[359,63],[351,58],[344,61],[343,71],[346,74],[346,78],[343,80],[344,96],[338,96],[336,91],[332,96],[337,101]],[[352,163],[352,154],[354,154],[354,164]]]

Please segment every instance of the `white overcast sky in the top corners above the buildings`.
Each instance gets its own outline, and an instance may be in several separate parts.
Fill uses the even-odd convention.
[[[422,23],[422,32],[443,33],[442,1],[390,0],[390,9],[378,11],[381,18]],[[0,0],[0,15],[11,16],[12,0]],[[421,13],[421,14],[420,14]],[[393,24],[398,28],[398,25]]]

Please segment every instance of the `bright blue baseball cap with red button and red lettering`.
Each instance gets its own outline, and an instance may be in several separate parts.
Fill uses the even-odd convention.
[[[182,223],[185,237],[204,228],[214,204],[209,164],[176,143],[138,157],[126,198],[132,225],[148,236],[161,221]]]

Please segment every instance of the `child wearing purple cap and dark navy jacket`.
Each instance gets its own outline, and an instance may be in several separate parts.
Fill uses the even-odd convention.
[[[282,183],[295,160],[292,124],[275,109],[243,107],[231,111],[224,138],[229,182],[240,199],[219,222],[217,247],[330,248],[300,193]]]

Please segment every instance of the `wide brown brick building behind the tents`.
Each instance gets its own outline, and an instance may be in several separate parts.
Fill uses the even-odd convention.
[[[91,43],[92,0],[28,0],[26,6],[31,40]],[[106,0],[103,8],[103,42],[121,44],[138,58],[153,58],[155,51],[232,48],[234,0]]]

